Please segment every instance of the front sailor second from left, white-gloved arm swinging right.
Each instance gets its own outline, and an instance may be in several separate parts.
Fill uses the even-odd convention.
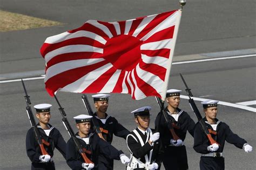
[[[76,120],[76,127],[78,132],[76,138],[80,145],[90,153],[86,153],[86,157],[93,163],[86,164],[83,158],[77,151],[77,147],[72,138],[66,144],[66,162],[71,169],[109,169],[108,167],[99,167],[99,157],[104,155],[108,159],[121,160],[123,164],[127,164],[130,159],[122,151],[118,151],[105,140],[98,137],[97,134],[92,133],[91,118],[89,115],[78,115],[74,117]]]

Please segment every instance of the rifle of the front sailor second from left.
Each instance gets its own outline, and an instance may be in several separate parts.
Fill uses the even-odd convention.
[[[62,106],[60,105],[56,95],[54,95],[54,98],[55,98],[55,100],[57,101],[57,103],[59,105],[59,112],[62,115],[62,123],[65,126],[66,130],[69,132],[70,137],[75,142],[78,153],[82,156],[85,163],[87,163],[87,164],[92,163],[93,164],[93,162],[89,158],[87,158],[87,156],[85,154],[85,153],[91,154],[91,151],[87,151],[85,148],[82,148],[81,144],[79,143],[79,141],[76,138],[76,135],[75,135],[73,129],[71,128],[71,126],[69,124],[68,119],[65,117],[66,113],[64,111],[64,108],[62,108]]]

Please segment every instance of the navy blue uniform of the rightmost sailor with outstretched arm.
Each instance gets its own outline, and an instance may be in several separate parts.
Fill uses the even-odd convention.
[[[207,128],[213,130],[206,118],[204,118],[204,121]],[[218,119],[215,119],[215,121],[217,122],[217,135],[211,135],[212,138],[217,141],[218,144],[220,144],[215,153],[223,152],[225,141],[234,144],[238,148],[242,148],[244,144],[247,143],[245,139],[242,139],[237,134],[234,134],[226,123],[220,122]],[[207,154],[210,153],[210,151],[207,150],[209,145],[211,144],[201,128],[201,125],[197,123],[194,130],[194,150],[198,153]],[[225,169],[224,158],[202,156],[200,159],[200,169]]]

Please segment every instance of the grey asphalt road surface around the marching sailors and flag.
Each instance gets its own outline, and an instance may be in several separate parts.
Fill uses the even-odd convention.
[[[174,61],[213,58],[223,53],[255,53],[255,1],[188,1],[183,11]],[[66,23],[63,26],[44,27],[23,31],[0,33],[0,77],[2,80],[15,79],[17,73],[28,77],[25,72],[44,69],[44,60],[39,48],[46,37],[74,29],[88,19],[116,21],[151,15],[179,8],[178,1],[0,1],[0,9],[22,13],[44,19]],[[201,54],[211,53],[211,54]],[[193,54],[193,55],[192,55]],[[194,55],[200,54],[200,55]],[[186,56],[184,56],[186,55]],[[192,93],[196,97],[238,103],[255,101],[256,58],[240,58],[173,65],[169,88],[184,90],[179,73],[183,73]],[[36,73],[37,74],[37,73]],[[7,75],[7,76],[6,76]],[[38,73],[38,75],[40,75]],[[44,89],[43,79],[25,81],[32,104],[51,103],[51,124],[69,139],[58,112],[54,98]],[[185,95],[185,91],[182,93]],[[24,92],[21,82],[0,83],[0,169],[29,169],[30,161],[25,153],[25,134],[30,128],[25,112]],[[73,129],[72,117],[85,114],[86,110],[80,94],[58,93],[59,102],[65,108]],[[89,100],[92,104],[92,97]],[[201,109],[199,102],[196,102]],[[113,94],[108,113],[127,129],[136,125],[130,112],[144,105],[152,107],[152,123],[159,111],[153,97],[134,101],[130,95]],[[252,107],[256,107],[253,105]],[[182,99],[180,108],[196,121],[188,101]],[[255,112],[219,105],[218,118],[230,125],[233,132],[245,138],[254,148]],[[185,140],[190,169],[199,169],[200,154],[193,150],[190,134]],[[129,154],[125,140],[114,138],[113,145]],[[255,169],[255,151],[243,150],[226,143],[224,149],[226,169]],[[69,169],[58,151],[54,156],[57,169]],[[124,169],[120,161],[114,169]]]

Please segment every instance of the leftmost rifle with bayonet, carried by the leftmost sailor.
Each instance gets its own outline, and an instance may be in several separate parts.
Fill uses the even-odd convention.
[[[35,132],[36,141],[37,141],[37,143],[38,143],[38,145],[39,145],[39,147],[40,147],[40,150],[41,150],[41,152],[42,152],[42,155],[48,154],[48,153],[46,152],[45,148],[44,148],[44,145],[50,146],[50,144],[49,144],[47,141],[45,141],[45,140],[41,137],[41,135],[40,135],[40,133],[39,133],[39,130],[38,130],[38,128],[37,128],[37,124],[36,124],[35,118],[34,118],[34,116],[33,116],[32,109],[31,109],[31,107],[30,107],[30,104],[31,104],[30,98],[29,98],[30,96],[28,96],[28,93],[26,93],[26,87],[25,87],[25,84],[24,84],[23,80],[22,80],[22,86],[23,86],[24,91],[25,91],[25,96],[24,96],[24,98],[25,98],[25,101],[26,101],[26,112],[27,112],[27,114],[28,114],[29,121],[30,121],[30,124],[31,124],[31,126],[32,126],[32,128],[33,128],[33,131]],[[49,154],[48,154],[48,155],[49,155]]]

